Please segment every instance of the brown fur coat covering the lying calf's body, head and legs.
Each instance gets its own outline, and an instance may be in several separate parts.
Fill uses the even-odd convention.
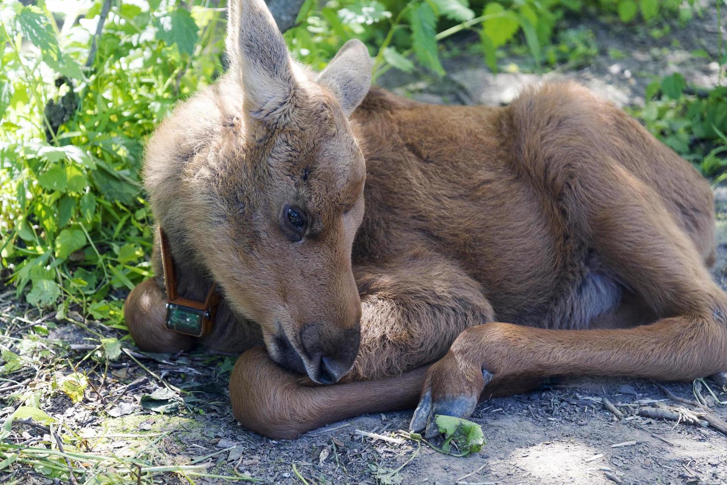
[[[148,147],[145,186],[180,294],[202,298],[212,280],[224,291],[201,345],[264,341],[314,380],[316,359],[342,374],[356,357],[341,383],[311,387],[246,351],[230,380],[241,423],[290,438],[410,407],[419,391],[435,410],[463,400],[452,412],[466,415],[478,397],[550,375],[727,370],[727,296],[707,272],[710,187],[622,111],[574,83],[534,87],[508,107],[372,88],[347,120],[341,86],[357,78],[327,89],[301,72],[286,70],[297,81],[262,113],[233,71],[178,107]],[[301,242],[278,228],[286,203],[314,214]],[[129,296],[129,330],[146,349],[188,349],[159,330],[160,288]],[[430,408],[423,399],[417,412]]]

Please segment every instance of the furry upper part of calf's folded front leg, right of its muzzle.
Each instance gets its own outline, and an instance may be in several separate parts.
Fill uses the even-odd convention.
[[[440,359],[467,327],[494,319],[481,285],[436,253],[357,266],[361,346],[348,380],[385,378]]]

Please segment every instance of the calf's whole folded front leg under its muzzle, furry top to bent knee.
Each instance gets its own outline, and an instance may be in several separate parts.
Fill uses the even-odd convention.
[[[425,366],[462,330],[492,319],[479,285],[433,253],[354,272],[362,314],[353,369],[339,383],[308,386],[262,349],[246,352],[230,377],[233,412],[246,428],[293,438],[334,420],[411,407]]]

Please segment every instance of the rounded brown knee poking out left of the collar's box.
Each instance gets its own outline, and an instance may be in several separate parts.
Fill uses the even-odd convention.
[[[150,278],[137,285],[124,303],[126,327],[139,349],[149,352],[188,351],[196,338],[171,332],[164,326],[166,295]]]

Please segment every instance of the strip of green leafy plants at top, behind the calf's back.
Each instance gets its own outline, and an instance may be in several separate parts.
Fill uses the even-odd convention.
[[[561,62],[563,49],[582,49],[566,36],[553,44],[566,15],[598,15],[618,23],[646,23],[661,32],[659,21],[691,19],[694,0],[306,0],[297,26],[285,34],[300,60],[324,68],[350,38],[369,45],[375,56],[374,79],[390,68],[419,67],[443,75],[443,39],[472,30],[487,65],[497,71],[502,46],[524,46],[536,69]],[[567,45],[566,45],[567,44]]]

